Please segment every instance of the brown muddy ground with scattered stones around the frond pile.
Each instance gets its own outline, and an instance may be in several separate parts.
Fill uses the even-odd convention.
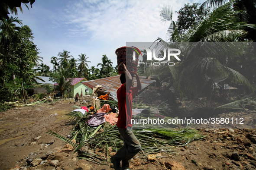
[[[79,159],[65,142],[45,133],[51,130],[63,136],[70,134],[73,125],[66,120],[65,113],[74,110],[72,105],[70,101],[62,101],[0,113],[0,169],[113,169],[110,163],[99,165]],[[139,153],[131,160],[131,169],[256,169],[256,129],[198,130],[204,137],[188,146],[174,147],[176,155],[158,153],[150,155],[150,160],[148,155]],[[100,150],[92,152],[104,154]]]

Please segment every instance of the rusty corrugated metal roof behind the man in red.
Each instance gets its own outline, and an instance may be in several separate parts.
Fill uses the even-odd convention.
[[[89,80],[81,83],[91,89],[93,89],[96,85],[102,85],[101,89],[103,89],[105,92],[110,92],[110,97],[117,101],[117,89],[122,85],[119,77],[120,76],[113,76],[97,80]],[[155,80],[146,79],[145,76],[139,76],[139,79],[142,86],[141,90],[155,82]]]

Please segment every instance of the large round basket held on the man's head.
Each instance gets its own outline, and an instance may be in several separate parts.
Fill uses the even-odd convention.
[[[138,61],[139,61],[139,54],[137,53],[136,47],[120,47],[117,48],[116,54],[117,54],[117,65],[119,66],[120,63],[124,63],[126,66],[126,69],[130,73],[136,73],[137,67],[138,67]],[[133,51],[135,51],[135,60],[133,60]],[[118,69],[118,74],[122,74],[123,70]]]

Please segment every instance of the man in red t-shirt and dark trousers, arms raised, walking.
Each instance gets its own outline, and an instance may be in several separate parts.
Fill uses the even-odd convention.
[[[136,139],[132,132],[131,124],[132,100],[133,96],[138,94],[138,91],[141,90],[141,82],[138,74],[130,73],[123,62],[119,64],[118,69],[123,70],[123,73],[120,75],[122,85],[117,90],[117,104],[119,109],[117,128],[123,137],[124,145],[110,160],[115,170],[130,170],[129,160],[141,149],[138,139]],[[137,81],[136,87],[133,87],[133,77],[135,77]],[[122,167],[120,166],[120,161],[122,161]]]

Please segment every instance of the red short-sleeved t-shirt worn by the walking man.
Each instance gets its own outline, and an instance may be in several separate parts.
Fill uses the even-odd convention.
[[[127,87],[126,87],[127,88]],[[132,127],[132,101],[133,96],[138,94],[137,87],[124,88],[124,84],[117,90],[117,104],[118,104],[118,120],[117,127],[125,129],[126,127]]]

